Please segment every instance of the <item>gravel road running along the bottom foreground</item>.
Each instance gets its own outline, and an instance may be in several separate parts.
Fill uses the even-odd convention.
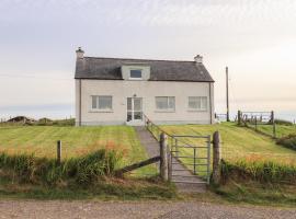
[[[39,201],[0,200],[0,218],[284,218],[296,219],[295,209],[229,206],[198,201]]]

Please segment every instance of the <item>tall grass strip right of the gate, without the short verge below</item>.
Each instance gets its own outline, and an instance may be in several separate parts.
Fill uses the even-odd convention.
[[[238,181],[258,181],[261,183],[284,183],[296,185],[296,165],[274,161],[221,162],[223,182],[229,178]]]

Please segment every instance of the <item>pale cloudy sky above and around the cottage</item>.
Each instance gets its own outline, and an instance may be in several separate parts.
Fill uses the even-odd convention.
[[[296,111],[294,0],[1,0],[0,113],[73,114],[78,46],[100,57],[201,54],[217,112],[226,66],[232,110]]]

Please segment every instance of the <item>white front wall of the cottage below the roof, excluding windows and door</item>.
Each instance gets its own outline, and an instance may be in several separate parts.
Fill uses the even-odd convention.
[[[112,111],[93,111],[91,107],[92,95],[111,95]],[[127,118],[127,97],[134,95],[143,97],[143,112],[157,124],[210,124],[214,122],[214,83],[77,79],[77,124],[80,124],[79,118],[81,117],[81,125],[123,125]],[[174,96],[175,111],[159,112],[156,107],[156,96]],[[207,96],[207,110],[189,110],[189,96]]]

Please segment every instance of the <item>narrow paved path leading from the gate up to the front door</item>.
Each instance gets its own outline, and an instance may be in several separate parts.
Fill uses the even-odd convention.
[[[150,131],[148,131],[144,126],[137,126],[135,127],[135,129],[148,155],[150,158],[159,155],[159,142],[155,139],[155,137],[150,134]],[[182,163],[180,163],[174,158],[172,158],[172,163],[173,163],[172,181],[178,182],[175,183],[175,186],[179,192],[182,193],[206,192],[206,185],[198,176],[193,175],[184,165],[182,165]]]

